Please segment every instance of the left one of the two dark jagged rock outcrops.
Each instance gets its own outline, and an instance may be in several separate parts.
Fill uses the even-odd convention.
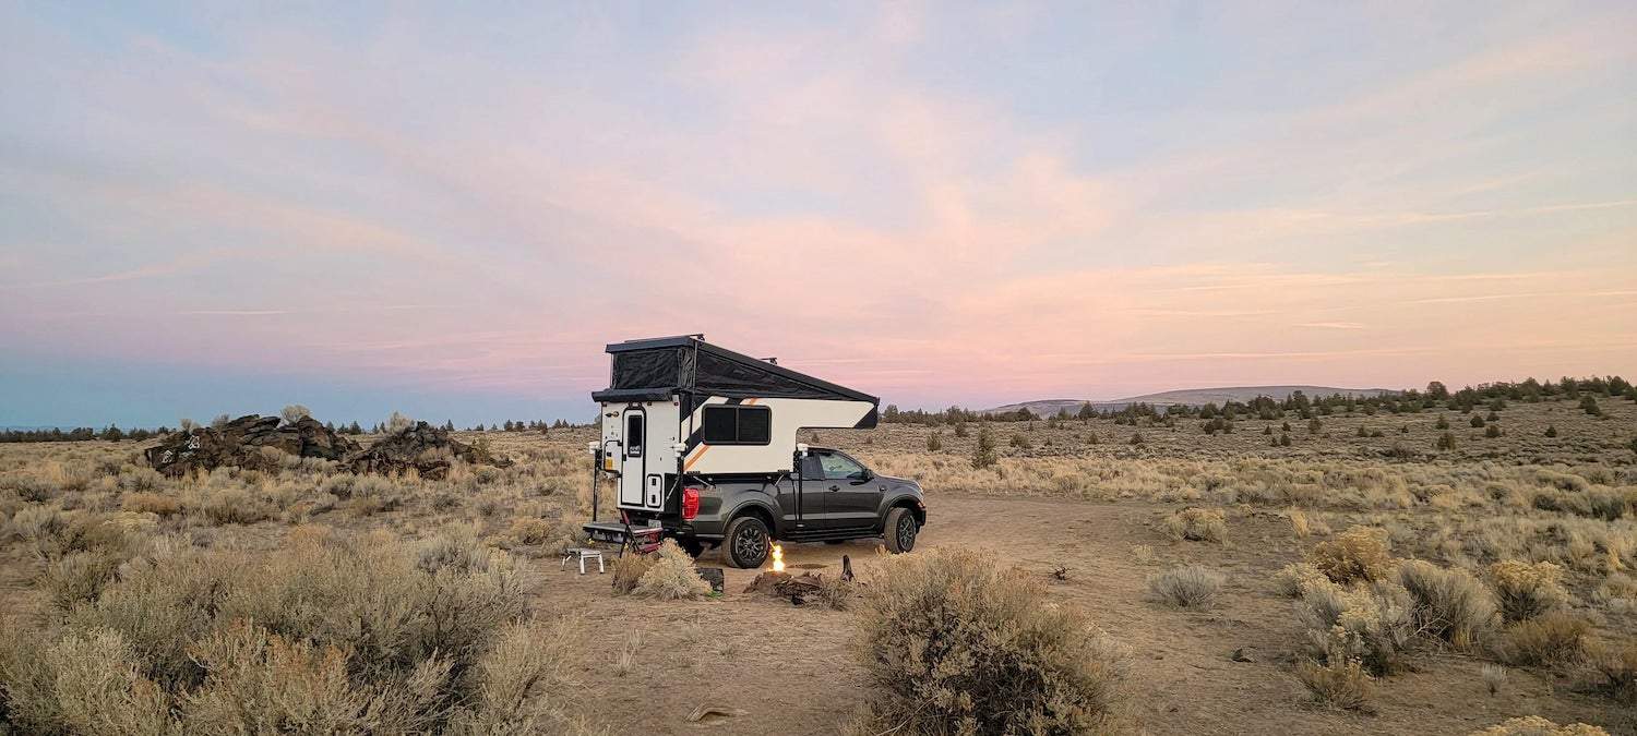
[[[147,464],[177,478],[195,469],[210,471],[221,466],[273,469],[278,456],[264,453],[262,448],[339,461],[357,451],[359,443],[331,432],[313,417],[301,417],[295,424],[280,427],[278,417],[250,414],[221,429],[196,427],[192,432],[167,435],[144,453]]]

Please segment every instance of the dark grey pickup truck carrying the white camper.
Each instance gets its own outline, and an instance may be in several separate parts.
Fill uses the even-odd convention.
[[[799,473],[688,476],[674,514],[632,512],[658,522],[689,554],[722,546],[735,568],[760,568],[773,541],[882,538],[892,553],[915,548],[927,523],[920,484],[877,474],[846,453],[807,447]]]

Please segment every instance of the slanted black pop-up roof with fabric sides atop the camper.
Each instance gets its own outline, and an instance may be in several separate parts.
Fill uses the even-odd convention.
[[[696,335],[627,340],[609,345],[607,352],[614,357],[614,376],[607,389],[591,394],[599,402],[665,401],[684,394],[868,401],[881,406],[874,396],[710,345]]]

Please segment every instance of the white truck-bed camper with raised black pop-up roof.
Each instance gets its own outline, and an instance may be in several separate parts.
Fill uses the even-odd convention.
[[[607,347],[596,461],[617,486],[619,509],[676,512],[689,478],[792,473],[799,429],[871,429],[881,399],[769,360],[735,353],[704,335]]]

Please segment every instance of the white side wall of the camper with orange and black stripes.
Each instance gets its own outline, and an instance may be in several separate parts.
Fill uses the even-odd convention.
[[[712,397],[694,409],[683,432],[692,432],[702,422],[706,406],[725,404]],[[745,399],[745,406],[764,406],[771,411],[771,442],[768,445],[699,445],[688,453],[683,468],[688,473],[784,473],[791,469],[796,451],[796,432],[802,429],[851,429],[874,411],[868,401],[833,399]]]

